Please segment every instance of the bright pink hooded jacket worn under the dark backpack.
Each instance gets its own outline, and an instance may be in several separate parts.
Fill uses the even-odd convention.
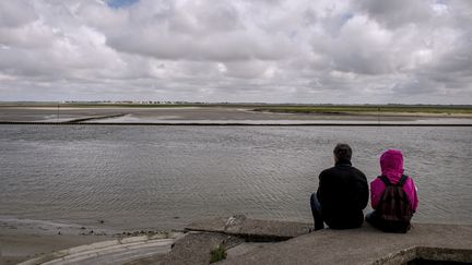
[[[403,174],[403,154],[401,150],[389,149],[384,153],[380,157],[380,168],[382,174],[387,176],[392,184],[397,184]],[[370,204],[374,209],[379,204],[385,190],[386,185],[379,178],[370,182]],[[403,185],[403,190],[410,198],[410,203],[412,203],[413,210],[416,212],[418,205],[416,185],[410,176]]]

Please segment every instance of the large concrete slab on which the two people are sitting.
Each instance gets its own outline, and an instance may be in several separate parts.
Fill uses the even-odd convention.
[[[472,226],[414,224],[405,234],[324,229],[219,264],[403,264],[416,257],[472,263]]]

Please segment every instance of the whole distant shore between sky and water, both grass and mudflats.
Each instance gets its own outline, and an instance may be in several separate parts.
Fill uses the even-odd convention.
[[[471,107],[248,105],[1,105],[1,124],[436,125],[472,124]]]

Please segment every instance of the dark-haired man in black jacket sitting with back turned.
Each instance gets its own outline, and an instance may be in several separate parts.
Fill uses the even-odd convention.
[[[320,173],[318,191],[310,197],[315,230],[323,229],[323,222],[333,229],[349,229],[361,227],[364,221],[367,179],[352,166],[352,149],[347,144],[338,144],[333,153],[334,167]]]

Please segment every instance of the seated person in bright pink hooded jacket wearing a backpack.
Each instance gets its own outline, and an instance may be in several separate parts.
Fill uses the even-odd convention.
[[[385,152],[380,157],[380,168],[381,176],[370,182],[370,204],[374,212],[366,216],[366,220],[384,231],[398,232],[397,230],[401,230],[401,232],[406,232],[410,228],[408,216],[410,215],[411,218],[416,212],[418,198],[413,179],[403,174],[403,154],[401,150],[389,149]],[[388,186],[390,188],[388,189]],[[396,189],[398,190],[396,191]],[[388,203],[385,203],[386,201]],[[400,217],[398,217],[399,215]]]

